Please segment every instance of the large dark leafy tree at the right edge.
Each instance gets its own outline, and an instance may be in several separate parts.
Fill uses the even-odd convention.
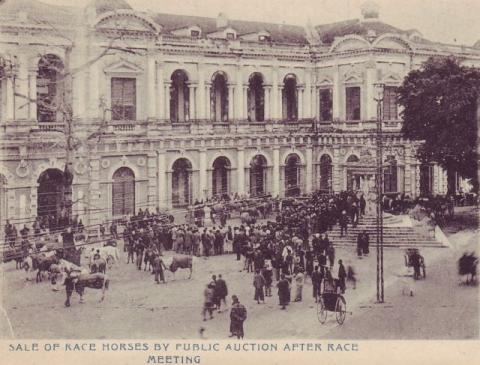
[[[423,141],[417,150],[422,162],[435,162],[447,170],[449,181],[458,173],[472,181],[477,176],[477,99],[480,70],[461,65],[454,57],[428,59],[411,71],[398,90],[403,106],[402,132]],[[449,193],[452,193],[449,184]]]

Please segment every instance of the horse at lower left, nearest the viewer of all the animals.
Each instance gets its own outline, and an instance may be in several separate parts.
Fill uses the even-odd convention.
[[[67,272],[67,277],[65,278],[65,291],[67,294],[65,306],[70,307],[70,297],[74,290],[80,295],[80,303],[83,303],[85,288],[101,289],[102,298],[100,299],[100,302],[102,302],[105,299],[105,290],[108,289],[109,283],[110,280],[106,274],[80,274],[78,272]]]

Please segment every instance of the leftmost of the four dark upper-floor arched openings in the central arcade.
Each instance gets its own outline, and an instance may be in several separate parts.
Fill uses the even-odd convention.
[[[189,119],[188,75],[183,70],[177,70],[171,77],[170,87],[170,120],[185,122]]]

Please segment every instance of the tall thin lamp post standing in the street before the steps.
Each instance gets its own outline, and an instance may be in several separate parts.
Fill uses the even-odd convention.
[[[382,133],[382,106],[385,85],[376,83],[373,85],[375,90],[374,100],[377,102],[377,302],[384,302],[384,282],[383,282],[383,133]]]

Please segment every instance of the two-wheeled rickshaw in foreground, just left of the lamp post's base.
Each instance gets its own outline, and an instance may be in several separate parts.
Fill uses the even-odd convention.
[[[328,312],[335,312],[338,324],[345,322],[347,315],[347,302],[340,293],[338,280],[324,280],[323,291],[317,302],[317,318],[321,324],[327,321]]]

